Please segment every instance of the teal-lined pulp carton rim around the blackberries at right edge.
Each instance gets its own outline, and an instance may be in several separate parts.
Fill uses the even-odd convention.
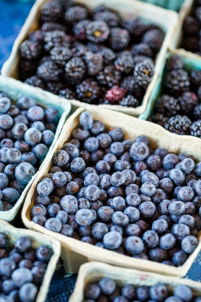
[[[170,56],[171,54],[172,54],[172,52],[168,53],[167,57]],[[182,57],[182,59],[184,60],[185,65],[183,68],[186,69],[187,71],[191,71],[192,69],[197,69],[197,70],[201,69],[200,58],[198,59],[197,57],[195,58],[193,56],[189,56],[186,53],[186,51],[185,51],[185,53],[178,53],[178,55],[180,55]],[[158,97],[161,95],[161,90],[162,90],[164,67],[165,67],[165,61],[161,68],[158,79],[156,81],[156,85],[151,92],[147,108],[146,108],[145,112],[139,116],[140,119],[147,120],[151,116],[151,114],[154,112],[154,109],[156,108],[157,100],[158,100]],[[159,126],[159,127],[164,129],[162,126]],[[177,134],[177,136],[179,136],[179,138],[180,138],[181,135]],[[190,141],[190,139],[192,138],[192,136],[190,136],[190,135],[184,135],[184,137],[187,141]]]

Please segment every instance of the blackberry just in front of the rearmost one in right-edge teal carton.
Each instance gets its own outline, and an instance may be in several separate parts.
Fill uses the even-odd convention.
[[[178,96],[182,92],[188,91],[190,79],[184,69],[173,69],[167,74],[165,86],[169,92]]]

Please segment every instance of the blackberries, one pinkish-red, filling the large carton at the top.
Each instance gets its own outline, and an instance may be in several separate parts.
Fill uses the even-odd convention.
[[[158,26],[69,0],[45,3],[40,21],[20,46],[22,81],[89,104],[140,105],[164,39]]]

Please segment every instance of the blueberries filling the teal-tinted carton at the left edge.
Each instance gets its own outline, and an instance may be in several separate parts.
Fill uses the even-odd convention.
[[[57,109],[21,97],[16,105],[0,93],[0,211],[18,201],[54,140],[60,118]]]

